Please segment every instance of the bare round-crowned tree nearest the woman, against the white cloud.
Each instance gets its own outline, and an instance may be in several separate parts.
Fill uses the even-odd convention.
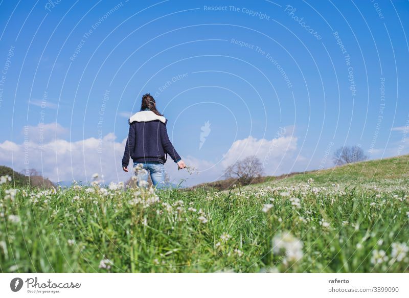
[[[256,177],[263,174],[263,167],[260,159],[256,156],[248,156],[229,166],[225,173],[225,178],[235,178],[242,185],[248,185]]]

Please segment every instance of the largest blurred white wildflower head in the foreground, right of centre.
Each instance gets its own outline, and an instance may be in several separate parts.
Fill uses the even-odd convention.
[[[280,254],[284,250],[284,264],[297,262],[303,257],[303,243],[288,232],[274,236],[272,249],[275,254]]]

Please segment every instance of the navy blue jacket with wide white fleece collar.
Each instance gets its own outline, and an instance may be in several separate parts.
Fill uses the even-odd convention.
[[[129,157],[134,163],[160,162],[164,164],[167,154],[177,163],[180,156],[169,140],[165,117],[150,110],[137,112],[129,119],[129,133],[125,145],[122,166],[127,167]]]

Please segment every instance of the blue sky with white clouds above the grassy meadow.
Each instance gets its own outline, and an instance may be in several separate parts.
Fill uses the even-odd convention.
[[[17,171],[127,179],[145,93],[200,172],[169,161],[187,185],[247,155],[279,175],[330,167],[343,145],[409,152],[408,1],[4,0],[0,15],[0,164]]]

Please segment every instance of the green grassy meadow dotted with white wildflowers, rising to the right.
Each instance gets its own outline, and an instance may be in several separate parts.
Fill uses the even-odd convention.
[[[407,155],[222,192],[0,196],[2,272],[409,272]]]

